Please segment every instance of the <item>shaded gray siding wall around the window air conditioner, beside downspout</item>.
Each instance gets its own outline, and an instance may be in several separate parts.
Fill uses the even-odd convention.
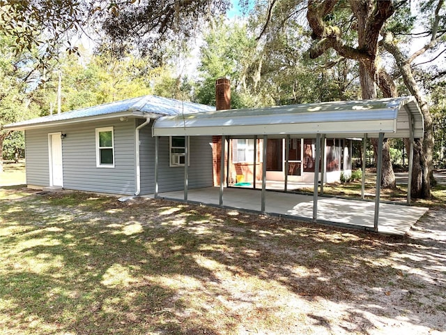
[[[144,133],[144,135],[143,135]],[[141,194],[155,192],[155,137],[151,125],[141,129]],[[212,137],[190,137],[189,188],[213,186]],[[180,191],[184,188],[184,167],[169,166],[169,137],[160,137],[158,156],[158,191]]]

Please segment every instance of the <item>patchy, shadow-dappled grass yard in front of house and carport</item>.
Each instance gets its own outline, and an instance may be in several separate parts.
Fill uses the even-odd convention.
[[[446,331],[441,238],[0,188],[0,262],[0,334]]]

